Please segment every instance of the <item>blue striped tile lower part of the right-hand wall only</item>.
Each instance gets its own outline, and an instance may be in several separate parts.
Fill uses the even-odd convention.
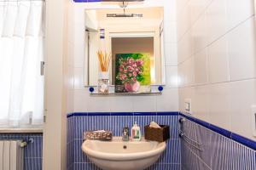
[[[198,149],[190,140],[181,139],[182,170],[256,170],[255,150],[230,138],[224,129],[207,128],[193,120],[183,122],[180,130],[201,145]]]

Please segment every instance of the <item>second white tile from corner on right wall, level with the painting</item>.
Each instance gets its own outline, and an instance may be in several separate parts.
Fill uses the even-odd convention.
[[[207,48],[195,54],[195,84],[206,84],[208,82]]]

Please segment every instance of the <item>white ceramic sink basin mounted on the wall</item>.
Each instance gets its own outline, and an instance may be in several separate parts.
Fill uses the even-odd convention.
[[[90,161],[103,170],[143,170],[157,161],[166,150],[166,142],[142,139],[124,142],[120,137],[112,141],[85,140],[82,150]]]

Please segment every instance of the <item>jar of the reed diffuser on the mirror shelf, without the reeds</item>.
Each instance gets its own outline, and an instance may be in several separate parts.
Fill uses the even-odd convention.
[[[101,94],[109,93],[109,76],[108,72],[100,72],[98,80],[98,92]]]

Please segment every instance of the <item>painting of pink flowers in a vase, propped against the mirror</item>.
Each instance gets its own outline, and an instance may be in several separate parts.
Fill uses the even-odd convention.
[[[116,54],[115,57],[115,92],[139,93],[150,91],[149,54]]]

